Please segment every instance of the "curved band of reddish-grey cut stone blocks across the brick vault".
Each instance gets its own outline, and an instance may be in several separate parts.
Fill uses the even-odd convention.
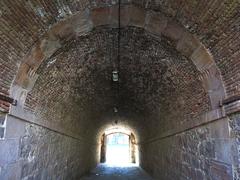
[[[133,5],[121,6],[121,27],[143,28],[155,37],[165,36],[184,56],[191,59],[201,73],[200,80],[208,93],[212,109],[219,108],[225,98],[221,74],[208,49],[183,26],[159,12],[144,10]],[[11,95],[18,101],[22,91],[30,91],[37,80],[37,69],[43,61],[50,58],[66,42],[77,36],[84,36],[98,26],[118,28],[118,6],[86,9],[58,22],[30,50],[20,65]],[[20,103],[24,104],[24,102]]]

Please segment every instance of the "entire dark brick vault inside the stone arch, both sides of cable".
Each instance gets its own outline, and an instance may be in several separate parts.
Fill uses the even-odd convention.
[[[118,96],[112,82],[117,38],[118,29],[99,27],[59,49],[38,69],[26,108],[71,129],[108,123],[114,107],[117,116],[140,124],[156,118],[162,128],[166,119],[176,125],[210,109],[193,62],[167,38],[136,27],[121,29]]]

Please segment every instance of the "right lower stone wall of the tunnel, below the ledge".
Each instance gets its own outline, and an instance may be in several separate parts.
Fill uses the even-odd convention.
[[[227,127],[225,118],[146,142],[141,165],[156,179],[233,179],[235,139]]]

